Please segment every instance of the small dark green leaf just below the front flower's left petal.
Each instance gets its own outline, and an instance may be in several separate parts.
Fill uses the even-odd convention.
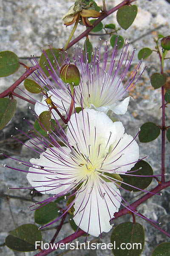
[[[58,216],[57,204],[50,202],[39,209],[35,210],[34,219],[37,224],[47,224],[48,222],[54,220]]]

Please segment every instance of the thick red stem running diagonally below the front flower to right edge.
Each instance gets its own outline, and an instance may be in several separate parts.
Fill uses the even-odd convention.
[[[166,187],[168,187],[168,186],[170,186],[170,181],[167,181],[167,182],[164,182],[164,183],[159,184],[158,186],[156,186],[156,188],[154,188],[153,190],[151,190],[151,192],[157,193],[157,192],[161,191],[162,189],[164,189],[164,188],[166,188]],[[144,195],[142,198],[139,198],[139,199],[136,200],[133,204],[131,204],[131,205],[130,205],[130,208],[136,209],[136,207],[138,207],[140,204],[142,204],[144,201],[146,201],[148,198],[150,198],[150,197],[152,197],[152,196],[153,196],[153,194],[147,193],[147,194]],[[122,215],[127,214],[128,212],[129,212],[129,209],[124,208],[124,209],[120,210],[119,212],[116,212],[116,213],[115,213],[115,218],[119,218],[119,217],[121,217]],[[114,220],[115,218],[113,218],[112,220]],[[161,232],[164,231],[164,230],[162,231],[162,229],[159,228],[158,226],[156,226],[156,228],[158,228]],[[166,232],[164,231],[163,233],[166,233]],[[72,234],[72,235],[66,237],[65,239],[63,239],[63,240],[57,242],[56,244],[59,245],[59,244],[61,244],[61,243],[63,243],[63,244],[69,243],[69,242],[73,241],[73,239],[77,239],[78,237],[80,237],[80,236],[82,236],[82,235],[84,235],[84,234],[86,234],[86,233],[85,233],[84,231],[80,230],[80,231],[77,232],[76,235],[75,235],[75,233],[74,233],[74,234]],[[169,236],[169,235],[168,235],[168,236]],[[52,249],[52,248],[49,248],[49,249],[47,249],[47,250],[42,250],[41,252],[35,254],[34,256],[46,256],[46,255],[48,255],[49,253],[51,253],[52,251],[54,251],[54,250],[56,250],[56,249],[55,249],[55,248],[53,248],[53,249]]]

